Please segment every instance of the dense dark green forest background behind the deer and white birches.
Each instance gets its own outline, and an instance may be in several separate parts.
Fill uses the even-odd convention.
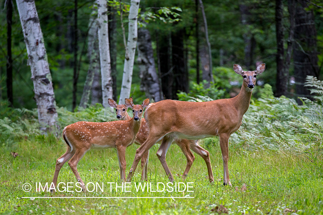
[[[141,0],[138,25],[138,44],[150,44],[159,85],[165,99],[185,99],[197,94],[212,99],[235,96],[241,85],[232,66],[254,70],[266,63],[266,72],[257,78],[258,87],[265,83],[273,87],[275,96],[290,98],[306,96],[307,75],[322,80],[323,65],[323,4],[308,0],[203,0],[212,53],[213,84],[208,84],[208,46],[201,5],[198,0]],[[1,0],[0,11],[0,99],[10,101],[7,86],[12,84],[15,108],[36,108],[27,52],[16,2]],[[108,1],[109,39],[114,99],[118,101],[123,73],[125,48],[120,21],[119,1]],[[77,7],[75,7],[77,5]],[[130,1],[122,1],[123,24],[127,36]],[[167,7],[174,13],[162,13]],[[58,107],[73,110],[73,82],[76,83],[76,106],[80,104],[83,88],[93,56],[98,54],[97,37],[91,30],[96,17],[93,0],[37,0],[36,8],[44,36]],[[180,8],[180,9],[179,9]],[[76,13],[77,11],[77,13]],[[159,13],[161,12],[161,13]],[[77,16],[75,16],[77,14]],[[160,15],[159,18],[156,15]],[[76,19],[75,19],[76,18]],[[176,21],[179,18],[179,21]],[[10,20],[10,21],[8,21]],[[75,22],[77,20],[77,22]],[[12,63],[8,58],[8,23],[11,25]],[[141,25],[143,24],[143,25]],[[148,30],[145,31],[145,29]],[[76,34],[75,34],[76,33]],[[141,36],[143,35],[143,36]],[[148,36],[147,36],[148,35]],[[149,38],[151,37],[151,38]],[[77,39],[76,39],[77,38]],[[91,43],[92,42],[92,43]],[[89,47],[89,46],[92,47]],[[142,47],[141,52],[150,52]],[[76,54],[75,54],[76,53]],[[141,103],[149,96],[145,87],[143,64],[138,49],[132,76],[131,96]],[[95,60],[94,60],[95,61]],[[9,62],[9,63],[8,63]],[[289,63],[290,62],[290,63]],[[8,81],[8,64],[12,67],[12,83]],[[100,72],[95,71],[89,103],[102,102]],[[10,68],[9,68],[10,70]],[[78,79],[75,80],[74,71]],[[149,80],[148,80],[149,81]],[[283,87],[282,87],[283,86]],[[285,87],[285,88],[284,88]],[[179,92],[183,93],[179,93]],[[257,97],[256,90],[255,96]],[[10,94],[10,93],[9,93]],[[5,103],[2,103],[5,104]],[[9,103],[10,104],[10,103]]]

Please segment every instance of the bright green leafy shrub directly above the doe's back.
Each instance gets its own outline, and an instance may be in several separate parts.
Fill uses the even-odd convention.
[[[217,84],[210,83],[209,88],[205,88],[206,81],[204,80],[202,83],[192,83],[191,90],[189,93],[180,92],[177,93],[178,100],[180,101],[188,101],[192,99],[192,97],[205,97],[205,101],[208,101],[207,97],[212,98],[211,100],[220,99],[224,95],[224,90],[219,90]],[[201,97],[202,96],[202,97]],[[203,100],[204,101],[204,100]]]

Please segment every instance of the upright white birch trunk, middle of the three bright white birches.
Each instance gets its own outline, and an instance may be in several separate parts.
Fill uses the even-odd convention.
[[[99,52],[101,65],[101,83],[102,83],[102,104],[103,107],[110,107],[108,99],[112,99],[112,78],[111,62],[108,37],[108,7],[106,0],[98,1],[98,23],[99,23]]]

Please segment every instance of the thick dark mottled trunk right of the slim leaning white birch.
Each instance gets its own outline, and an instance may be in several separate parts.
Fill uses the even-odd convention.
[[[141,85],[140,90],[145,92],[146,97],[155,102],[163,100],[159,77],[156,73],[155,60],[151,47],[151,36],[147,29],[138,29],[138,58]]]

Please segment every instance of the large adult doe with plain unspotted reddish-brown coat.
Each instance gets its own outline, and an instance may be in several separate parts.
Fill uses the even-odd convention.
[[[243,84],[240,93],[231,99],[210,102],[164,100],[153,103],[145,112],[149,136],[136,151],[127,181],[131,181],[142,155],[161,139],[163,140],[158,151],[168,149],[168,144],[174,138],[197,140],[219,136],[224,167],[224,185],[231,186],[228,170],[229,137],[239,129],[242,117],[249,108],[256,76],[264,70],[265,64],[260,64],[255,71],[243,71],[239,65],[234,64],[234,71],[241,74]]]

